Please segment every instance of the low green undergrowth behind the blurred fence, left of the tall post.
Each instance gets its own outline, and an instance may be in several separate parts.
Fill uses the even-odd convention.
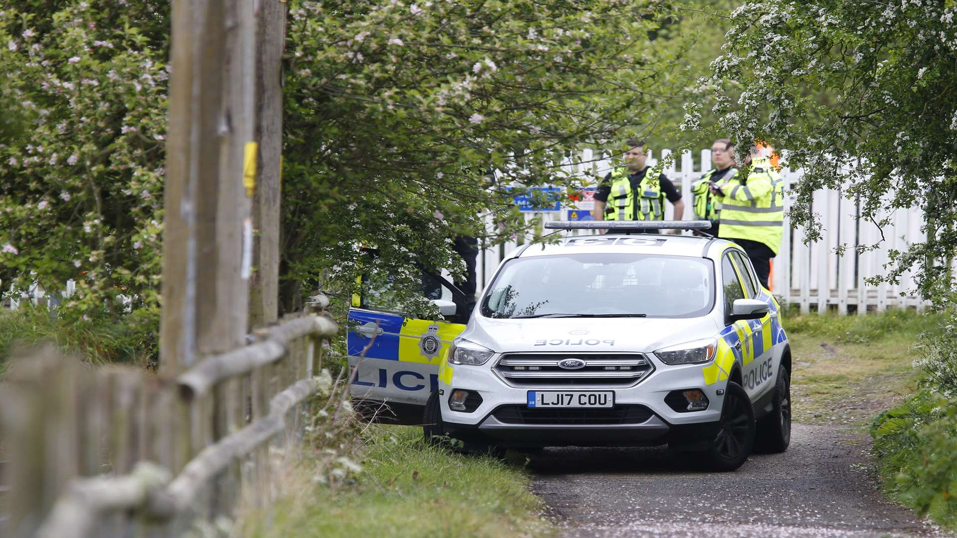
[[[21,303],[0,311],[0,371],[14,355],[53,345],[60,352],[81,356],[90,364],[133,363],[145,368],[156,353],[158,317],[144,309],[122,316],[105,310],[85,319],[57,318],[45,306]]]

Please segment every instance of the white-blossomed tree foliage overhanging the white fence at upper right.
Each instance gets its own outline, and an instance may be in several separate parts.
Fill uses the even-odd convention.
[[[811,203],[822,188],[859,199],[861,218],[879,226],[920,206],[926,240],[892,252],[879,279],[897,282],[917,266],[920,291],[940,305],[957,250],[955,14],[945,2],[748,2],[731,14],[724,54],[701,80],[739,153],[760,139],[804,168],[791,216],[810,240],[820,237]]]

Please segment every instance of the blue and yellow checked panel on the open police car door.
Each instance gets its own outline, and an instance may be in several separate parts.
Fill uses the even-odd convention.
[[[375,337],[375,341],[366,351],[367,359],[434,364],[439,366],[439,379],[452,383],[452,365],[448,364],[446,358],[453,339],[465,329],[465,325],[363,310],[350,310],[349,321],[357,325],[375,325],[379,322],[382,333]],[[433,356],[427,355],[422,349],[422,337],[430,332],[430,327],[434,327],[433,334],[439,342],[439,348]],[[362,355],[370,340],[364,334],[349,330],[346,338],[349,356]]]

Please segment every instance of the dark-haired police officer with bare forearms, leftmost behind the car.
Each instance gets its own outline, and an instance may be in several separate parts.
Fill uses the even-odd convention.
[[[680,220],[684,214],[681,193],[664,174],[649,177],[644,141],[633,139],[625,144],[625,167],[605,176],[595,191],[595,220],[664,220],[665,199],[675,207],[675,219]]]

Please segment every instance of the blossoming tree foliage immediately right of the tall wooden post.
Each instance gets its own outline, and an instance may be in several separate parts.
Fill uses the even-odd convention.
[[[687,40],[652,40],[671,16],[645,0],[292,2],[284,278],[351,282],[362,244],[416,289],[411,261],[461,270],[450,237],[524,228],[506,188],[591,182],[559,173],[571,149],[662,132],[692,79]]]

